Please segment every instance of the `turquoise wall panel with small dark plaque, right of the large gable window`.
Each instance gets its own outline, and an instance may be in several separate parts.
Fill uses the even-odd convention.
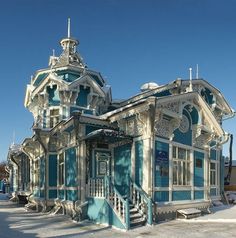
[[[202,164],[202,167],[197,167],[197,160]],[[194,151],[194,186],[204,186],[204,153]]]

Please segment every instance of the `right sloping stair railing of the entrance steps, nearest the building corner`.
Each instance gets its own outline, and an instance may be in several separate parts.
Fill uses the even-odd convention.
[[[132,179],[130,179],[130,200],[135,207],[146,216],[147,223],[152,225],[152,199]]]

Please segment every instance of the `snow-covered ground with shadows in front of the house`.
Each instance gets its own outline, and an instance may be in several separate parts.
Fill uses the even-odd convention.
[[[0,237],[236,237],[236,206],[221,206],[213,214],[191,220],[175,220],[123,232],[90,222],[73,223],[63,215],[27,212],[0,194]]]

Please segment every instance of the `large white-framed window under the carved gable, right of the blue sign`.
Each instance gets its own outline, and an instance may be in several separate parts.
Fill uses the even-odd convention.
[[[173,185],[190,185],[190,150],[173,146]]]

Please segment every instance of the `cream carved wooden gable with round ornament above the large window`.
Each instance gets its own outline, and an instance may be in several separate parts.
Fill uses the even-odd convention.
[[[177,95],[169,100],[169,102],[168,99],[158,100],[159,105],[156,107],[154,126],[156,136],[172,140],[173,133],[177,128],[183,134],[191,129],[193,145],[205,148],[216,136],[223,135],[217,118],[198,93]],[[198,114],[198,119],[193,122],[189,120],[183,114],[184,108],[191,117],[195,111],[195,114]]]

